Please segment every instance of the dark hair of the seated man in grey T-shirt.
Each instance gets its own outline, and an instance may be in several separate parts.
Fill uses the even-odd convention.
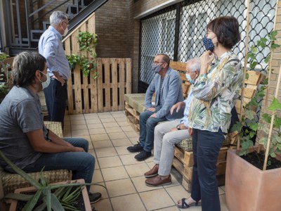
[[[46,58],[37,52],[22,52],[13,60],[13,84],[18,87],[27,87],[34,82],[36,70],[43,71]]]

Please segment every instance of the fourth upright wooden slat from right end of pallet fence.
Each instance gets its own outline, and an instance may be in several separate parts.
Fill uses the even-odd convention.
[[[105,83],[105,107],[103,111],[110,111],[110,59],[102,58],[103,64],[105,65],[104,69],[104,83]]]

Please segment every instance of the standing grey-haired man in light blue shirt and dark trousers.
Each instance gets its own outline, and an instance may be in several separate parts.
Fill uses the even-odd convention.
[[[44,89],[48,119],[62,122],[67,106],[67,79],[70,76],[70,65],[65,56],[62,39],[68,32],[66,13],[54,11],[50,16],[51,26],[39,39],[39,53],[47,60],[50,85]]]

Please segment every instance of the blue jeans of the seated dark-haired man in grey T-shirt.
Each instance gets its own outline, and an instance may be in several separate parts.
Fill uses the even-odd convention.
[[[91,183],[93,170],[95,169],[95,158],[88,152],[89,143],[81,138],[64,138],[73,146],[84,148],[85,152],[66,153],[42,153],[41,157],[23,170],[25,172],[67,169],[72,170],[72,179],[84,179],[86,183]],[[91,186],[87,186],[88,191]]]

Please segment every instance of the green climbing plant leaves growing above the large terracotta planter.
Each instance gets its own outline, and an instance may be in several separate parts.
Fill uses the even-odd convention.
[[[267,34],[266,37],[259,39],[256,42],[256,45],[250,47],[250,51],[249,53],[247,53],[247,56],[249,58],[249,67],[251,68],[251,70],[254,70],[256,68],[256,65],[258,65],[256,54],[259,53],[259,51],[263,51],[263,49],[266,49],[266,47],[268,46],[272,50],[280,47],[279,44],[275,44],[276,35],[277,35],[277,31],[270,32],[270,34]],[[269,53],[268,56],[264,58],[265,63],[267,64],[269,63],[270,56],[271,55]],[[246,74],[246,78],[247,77],[249,77],[248,74]],[[254,98],[251,98],[251,101],[247,103],[245,106],[243,106],[244,114],[242,115],[241,122],[237,122],[233,127],[233,131],[237,131],[240,134],[241,150],[239,151],[239,155],[247,155],[247,153],[249,153],[249,148],[254,146],[254,143],[253,141],[251,141],[251,139],[256,135],[258,129],[261,129],[263,132],[266,132],[266,134],[268,134],[268,127],[266,127],[266,125],[264,125],[262,122],[270,123],[271,115],[264,113],[259,123],[259,121],[256,120],[256,112],[253,109],[253,108],[261,107],[262,98],[263,96],[265,96],[265,91],[268,87],[267,85],[268,85],[268,78],[266,78],[263,81],[262,86],[259,87],[258,91],[256,91]],[[273,113],[276,113],[277,110],[280,108],[281,108],[281,103],[278,102],[276,98],[274,98],[268,110],[271,110],[273,111]],[[243,126],[245,124],[247,124],[249,129],[244,129]],[[281,133],[280,133],[281,118],[280,117],[275,116],[273,127],[277,130],[277,133],[273,134],[273,136],[271,137],[270,156],[275,158],[275,153],[281,153]],[[267,140],[268,138],[263,137],[259,140],[259,143],[263,144],[263,146],[266,147]]]

